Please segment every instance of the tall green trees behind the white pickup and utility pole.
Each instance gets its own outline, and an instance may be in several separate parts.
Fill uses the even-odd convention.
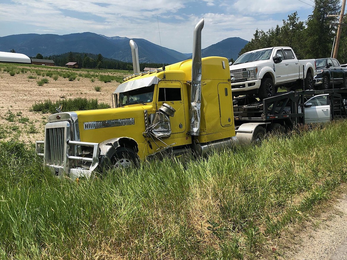
[[[336,35],[337,17],[341,11],[339,0],[314,0],[312,15],[306,21],[299,21],[297,12],[288,15],[280,27],[272,27],[268,31],[256,29],[253,38],[240,51],[239,55],[256,49],[273,46],[292,47],[298,59],[319,59],[331,56]],[[347,18],[344,22],[347,23]],[[342,27],[337,59],[341,64],[347,63],[347,26]]]

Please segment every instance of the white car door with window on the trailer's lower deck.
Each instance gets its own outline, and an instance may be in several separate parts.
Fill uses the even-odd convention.
[[[309,106],[307,106],[310,104]],[[319,95],[305,102],[305,123],[324,123],[331,119],[329,95]]]

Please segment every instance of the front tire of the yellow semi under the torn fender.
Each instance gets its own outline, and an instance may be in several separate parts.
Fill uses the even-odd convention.
[[[111,168],[129,168],[137,167],[138,165],[138,155],[130,148],[118,148],[115,155],[111,158]]]

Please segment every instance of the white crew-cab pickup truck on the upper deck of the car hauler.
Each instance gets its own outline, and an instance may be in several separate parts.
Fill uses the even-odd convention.
[[[230,65],[231,92],[258,94],[262,100],[276,94],[279,86],[313,89],[315,70],[314,59],[298,60],[290,47],[249,51]]]

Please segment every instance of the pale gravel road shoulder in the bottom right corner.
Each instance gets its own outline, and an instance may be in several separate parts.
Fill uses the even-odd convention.
[[[347,187],[342,187],[344,193],[320,206],[321,214],[303,223],[301,231],[294,232],[277,259],[347,259]]]

